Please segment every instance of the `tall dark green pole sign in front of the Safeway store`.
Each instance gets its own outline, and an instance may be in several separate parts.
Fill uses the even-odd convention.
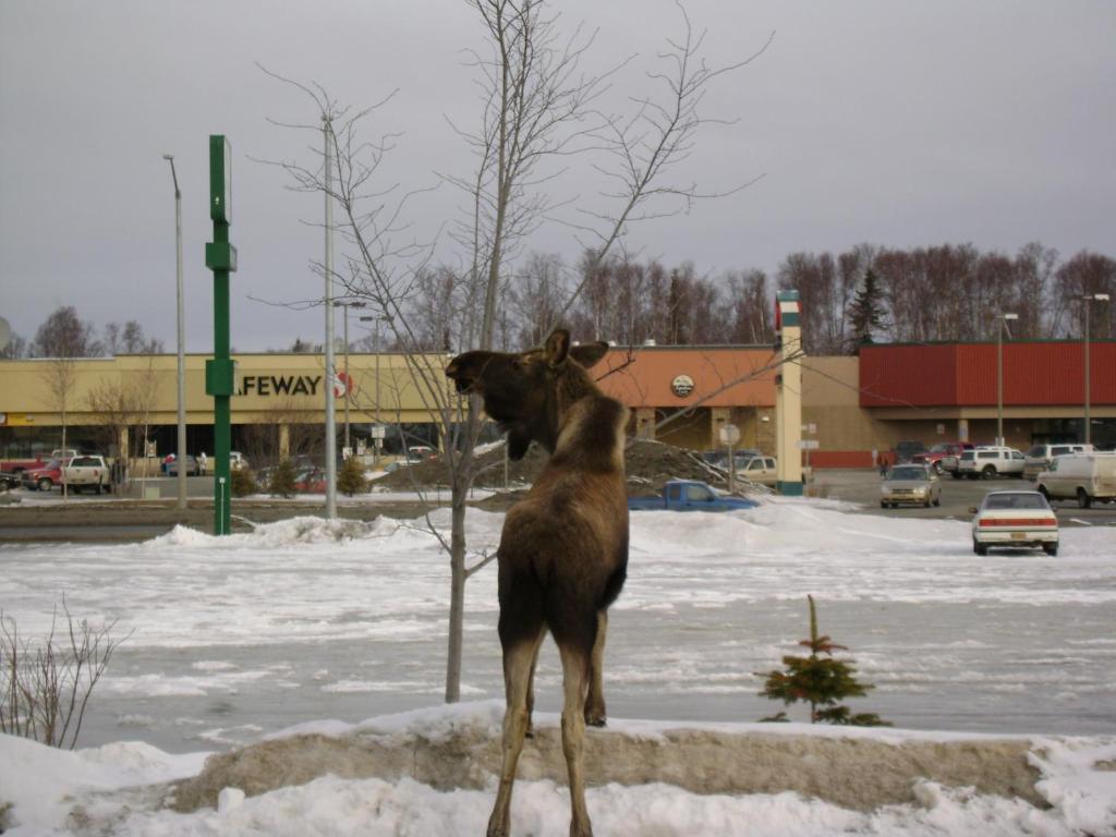
[[[205,244],[205,267],[213,271],[213,357],[205,362],[205,393],[213,396],[213,533],[232,531],[232,395],[235,363],[229,356],[229,273],[237,270],[237,248],[229,243],[232,220],[232,146],[210,135],[210,218],[213,241]]]

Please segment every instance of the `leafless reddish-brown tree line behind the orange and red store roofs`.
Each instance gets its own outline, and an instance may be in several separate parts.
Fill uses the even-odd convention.
[[[468,305],[455,298],[460,287],[446,267],[416,278],[406,310],[424,348],[456,348],[453,326]],[[836,254],[791,253],[772,278],[757,269],[700,275],[691,261],[667,267],[591,252],[570,267],[558,256],[533,253],[502,281],[494,343],[541,345],[565,311],[562,323],[586,340],[766,345],[775,339],[775,291],[785,289],[800,295],[811,355],[855,354],[866,341],[991,340],[1004,312],[1019,317],[1009,324],[1012,339],[1071,338],[1084,330],[1084,295],[1116,297],[1116,260],[1083,251],[1061,261],[1039,243],[1013,257],[972,244],[857,244]],[[1087,308],[1093,337],[1116,336],[1116,308]],[[365,338],[358,348],[373,350],[371,344]]]

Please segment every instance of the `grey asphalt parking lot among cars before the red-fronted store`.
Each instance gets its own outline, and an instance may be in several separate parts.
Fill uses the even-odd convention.
[[[904,506],[898,509],[882,509],[879,508],[881,482],[882,478],[878,471],[835,470],[817,471],[809,485],[815,497],[854,502],[864,507],[866,513],[956,520],[970,519],[972,514],[969,510],[979,506],[989,491],[1033,488],[1033,483],[1027,480],[1007,477],[995,480],[954,480],[952,477],[944,475],[940,507],[924,509],[916,506]],[[1059,501],[1054,503],[1054,508],[1061,526],[1116,526],[1116,503],[1097,503],[1091,509],[1080,509],[1076,502]]]

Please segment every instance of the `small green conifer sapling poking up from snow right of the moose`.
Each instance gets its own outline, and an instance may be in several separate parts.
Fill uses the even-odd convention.
[[[848,706],[837,705],[846,698],[863,698],[874,686],[856,679],[856,665],[852,660],[835,660],[835,651],[848,651],[837,645],[826,635],[818,634],[818,616],[814,597],[810,603],[810,638],[799,645],[810,650],[808,657],[785,656],[785,671],[768,672],[763,691],[764,698],[782,701],[785,704],[804,702],[810,704],[810,723],[846,724],[853,727],[891,727],[874,712],[852,714]],[[787,713],[780,712],[763,721],[786,721]]]

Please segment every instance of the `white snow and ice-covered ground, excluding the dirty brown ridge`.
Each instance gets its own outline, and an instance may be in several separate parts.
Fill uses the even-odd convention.
[[[449,525],[448,513],[434,520]],[[471,511],[471,548],[493,549],[501,522],[501,514]],[[41,780],[23,801],[23,810],[32,799],[44,808],[40,822],[57,812],[42,787],[185,776],[196,772],[200,751],[295,724],[352,724],[441,703],[449,570],[434,538],[410,522],[300,518],[220,539],[176,529],[140,545],[3,546],[0,569],[0,606],[25,636],[49,627],[64,595],[75,615],[94,624],[116,619],[117,636],[131,632],[86,720],[80,743],[90,749],[61,754],[0,739],[0,804],[6,778],[15,781],[3,766],[39,764],[41,776],[20,775]],[[479,705],[502,694],[493,570],[466,588],[462,691]],[[978,558],[966,522],[865,516],[830,501],[775,499],[721,516],[634,514],[628,583],[612,610],[606,653],[610,725],[747,723],[781,709],[757,695],[756,673],[797,653],[808,633],[807,594],[818,603],[821,632],[849,646],[860,677],[876,685],[850,702],[855,711],[908,730],[1091,737],[1058,739],[1050,763],[1062,767],[1046,775],[1051,787],[1091,799],[1090,827],[1103,826],[1095,833],[1116,833],[1116,791],[1105,783],[1116,773],[1089,772],[1072,757],[1086,748],[1116,759],[1116,739],[1108,738],[1116,732],[1112,529],[1065,528],[1057,558]],[[558,709],[559,679],[548,644],[536,681],[541,711]],[[790,714],[804,718],[793,708]],[[143,743],[114,743],[124,741]],[[1093,796],[1081,797],[1081,787]],[[517,792],[520,821],[545,824],[532,834],[565,834],[562,788],[531,782]],[[648,795],[663,812],[639,826],[633,811],[647,807]],[[411,825],[392,825],[387,815],[365,830],[341,825],[367,820],[376,799]],[[223,815],[153,815],[134,833],[439,835],[456,834],[454,824],[463,822],[460,833],[477,834],[491,804],[485,793],[437,793],[405,780],[336,779],[230,800]],[[921,809],[869,817],[792,795],[714,798],[610,786],[589,796],[599,834],[1054,835],[1079,825],[1068,809],[1039,816],[1024,806],[1032,817],[1009,811],[1013,805],[951,797],[930,806],[951,811],[942,822],[953,825],[939,827]],[[316,831],[296,817],[299,828],[285,831],[288,809],[311,820],[314,811],[336,811],[336,819],[321,814]],[[222,826],[222,816],[256,825],[230,830],[233,820]],[[423,816],[431,818],[425,826]],[[687,818],[739,828],[686,830]]]

